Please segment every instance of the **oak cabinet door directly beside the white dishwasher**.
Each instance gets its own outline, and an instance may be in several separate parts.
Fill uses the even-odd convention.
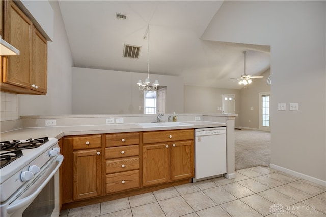
[[[194,144],[192,141],[171,143],[171,180],[194,177]]]

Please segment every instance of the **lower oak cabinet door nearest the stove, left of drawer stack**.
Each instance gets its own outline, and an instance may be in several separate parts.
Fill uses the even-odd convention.
[[[73,199],[79,200],[102,194],[101,149],[73,152]]]

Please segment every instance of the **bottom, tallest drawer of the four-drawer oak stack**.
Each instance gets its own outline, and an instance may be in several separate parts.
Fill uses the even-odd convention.
[[[106,194],[139,187],[139,170],[106,175]]]

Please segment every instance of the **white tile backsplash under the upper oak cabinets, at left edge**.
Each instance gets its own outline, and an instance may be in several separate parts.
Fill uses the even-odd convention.
[[[0,96],[0,121],[18,119],[17,94],[1,92]]]

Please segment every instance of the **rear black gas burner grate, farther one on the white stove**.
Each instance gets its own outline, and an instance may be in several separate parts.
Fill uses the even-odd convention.
[[[12,151],[12,150],[20,150],[20,149],[37,148],[48,141],[49,141],[48,137],[42,137],[38,139],[30,138],[24,141],[20,141],[20,140],[3,141],[0,142],[0,151]]]

